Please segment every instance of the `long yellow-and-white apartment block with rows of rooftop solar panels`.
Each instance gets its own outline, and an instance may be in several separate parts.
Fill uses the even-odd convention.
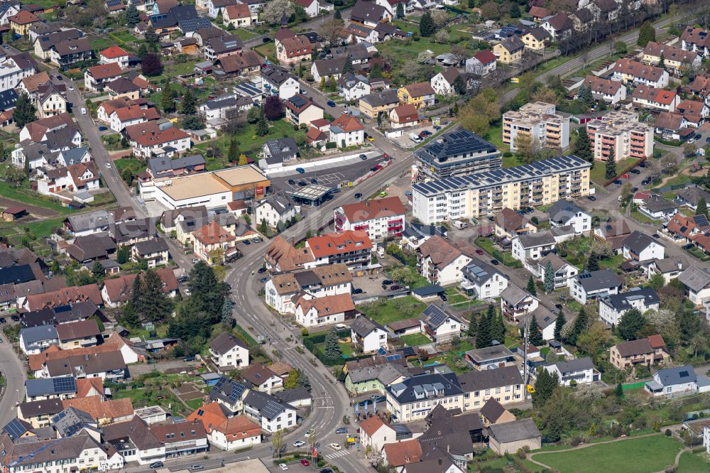
[[[412,186],[413,217],[428,225],[589,195],[590,169],[591,163],[569,155],[417,183]]]

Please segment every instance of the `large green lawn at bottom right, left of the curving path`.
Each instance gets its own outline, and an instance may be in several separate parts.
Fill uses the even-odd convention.
[[[624,473],[648,473],[673,464],[681,448],[674,438],[655,435],[570,452],[540,453],[534,458],[560,472],[607,473],[621,469]]]

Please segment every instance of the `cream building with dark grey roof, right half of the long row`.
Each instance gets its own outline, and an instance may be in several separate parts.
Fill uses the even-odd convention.
[[[474,369],[460,374],[458,379],[461,391],[464,391],[464,411],[478,411],[490,398],[503,406],[523,400],[525,384],[518,366]]]

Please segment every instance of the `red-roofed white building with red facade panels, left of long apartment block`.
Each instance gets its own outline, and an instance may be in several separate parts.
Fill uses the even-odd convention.
[[[335,231],[367,232],[371,240],[396,237],[405,227],[406,213],[399,197],[342,205],[334,210]]]

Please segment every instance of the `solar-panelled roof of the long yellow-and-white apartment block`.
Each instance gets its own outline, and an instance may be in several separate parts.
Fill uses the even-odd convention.
[[[591,163],[574,156],[557,156],[556,158],[535,161],[530,164],[515,166],[515,168],[484,171],[471,175],[457,176],[432,180],[428,183],[413,185],[413,190],[424,195],[437,195],[452,190],[485,187],[487,185],[502,185],[516,180],[542,178],[553,173],[591,168]]]

